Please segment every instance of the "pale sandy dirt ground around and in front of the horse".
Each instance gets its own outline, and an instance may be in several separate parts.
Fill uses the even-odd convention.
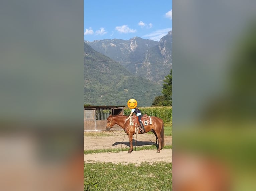
[[[90,132],[92,133],[92,132]],[[107,148],[129,148],[129,138],[127,134],[124,134],[124,131],[114,131],[107,132],[108,136],[100,136],[101,133],[106,132],[93,132],[96,136],[85,136],[84,137],[84,150],[93,150],[93,149],[107,149]],[[97,135],[98,133],[98,135]],[[114,134],[116,133],[116,134]],[[163,149],[160,153],[156,153],[155,150],[141,150],[135,151],[135,138],[133,136],[133,152],[128,154],[127,151],[119,153],[95,153],[95,154],[86,154],[84,155],[84,161],[89,162],[112,162],[112,163],[122,163],[129,164],[135,163],[140,164],[141,162],[155,162],[155,161],[164,161],[172,162],[172,149]],[[137,147],[154,145],[155,142],[154,134],[138,134],[137,135]],[[158,142],[157,142],[158,143]],[[172,136],[164,136],[164,145],[172,144]]]

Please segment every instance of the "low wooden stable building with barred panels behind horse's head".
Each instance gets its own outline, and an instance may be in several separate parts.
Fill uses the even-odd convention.
[[[105,131],[109,115],[123,115],[126,106],[84,106],[84,131]],[[123,130],[115,124],[113,130]]]

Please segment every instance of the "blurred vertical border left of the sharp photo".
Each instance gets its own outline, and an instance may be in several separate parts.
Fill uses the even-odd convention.
[[[0,190],[83,190],[83,5],[0,3]]]

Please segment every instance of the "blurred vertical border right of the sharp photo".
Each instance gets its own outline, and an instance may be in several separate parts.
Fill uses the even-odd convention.
[[[173,1],[173,190],[256,190],[256,1]]]

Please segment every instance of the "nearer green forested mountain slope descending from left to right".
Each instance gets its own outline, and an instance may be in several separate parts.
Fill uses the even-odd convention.
[[[95,51],[84,42],[84,103],[126,105],[130,98],[138,106],[151,106],[162,86],[135,76],[120,63]]]

